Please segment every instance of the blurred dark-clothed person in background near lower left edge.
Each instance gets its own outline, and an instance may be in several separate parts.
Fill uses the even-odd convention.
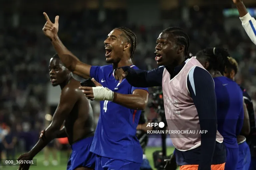
[[[10,125],[6,126],[6,130],[8,133],[5,135],[3,139],[3,145],[6,150],[6,158],[7,159],[14,159],[15,158],[15,145],[17,142],[17,137],[14,130],[11,128]]]

